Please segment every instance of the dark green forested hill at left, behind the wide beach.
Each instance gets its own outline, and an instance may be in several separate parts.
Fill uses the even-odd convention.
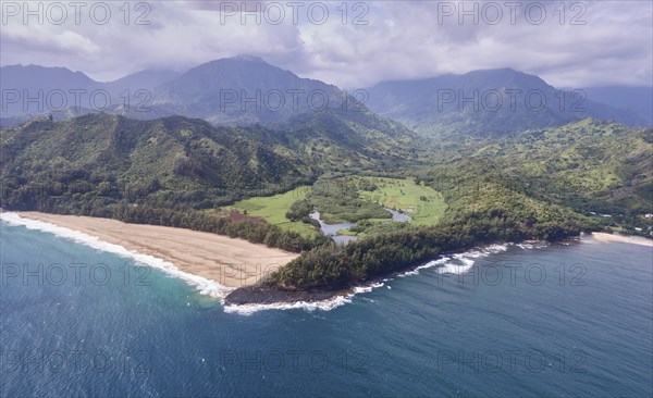
[[[315,174],[288,149],[246,138],[246,128],[181,116],[135,121],[89,114],[1,132],[5,208],[115,202],[208,208],[306,184]]]

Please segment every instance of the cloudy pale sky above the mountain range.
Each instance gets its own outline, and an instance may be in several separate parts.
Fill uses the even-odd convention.
[[[98,80],[255,54],[343,88],[509,66],[557,87],[653,85],[653,2],[1,1],[0,63]]]

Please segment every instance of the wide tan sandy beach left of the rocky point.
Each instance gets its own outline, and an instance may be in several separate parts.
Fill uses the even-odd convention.
[[[184,272],[227,287],[252,285],[298,256],[243,239],[190,229],[38,212],[21,212],[19,215],[79,231],[163,259]]]

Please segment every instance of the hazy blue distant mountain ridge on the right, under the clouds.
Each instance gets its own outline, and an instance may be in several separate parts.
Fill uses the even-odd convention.
[[[590,101],[581,90],[558,90],[537,75],[509,67],[380,82],[369,108],[424,135],[505,135],[564,125],[588,116],[645,125],[645,119]]]

